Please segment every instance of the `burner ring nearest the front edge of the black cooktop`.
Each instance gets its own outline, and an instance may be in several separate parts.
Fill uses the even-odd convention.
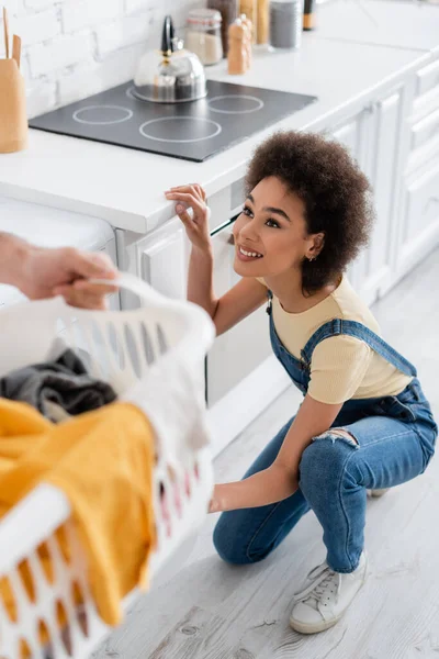
[[[216,121],[203,116],[162,116],[146,121],[139,127],[140,134],[147,139],[175,144],[211,139],[219,135],[222,130]],[[181,138],[180,135],[187,135],[187,137]]]

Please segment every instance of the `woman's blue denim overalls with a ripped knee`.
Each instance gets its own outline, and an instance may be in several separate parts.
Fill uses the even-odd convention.
[[[255,509],[225,512],[214,530],[219,556],[232,563],[249,563],[270,554],[309,510],[324,529],[327,562],[337,572],[356,569],[364,544],[367,489],[398,485],[425,471],[435,453],[438,426],[417,379],[415,367],[371,330],[354,321],[335,319],[309,338],[295,358],[283,346],[267,312],[274,355],[305,395],[316,346],[339,334],[365,342],[375,353],[413,380],[398,395],[347,401],[330,432],[315,437],[302,454],[300,489],[289,499]],[[294,416],[266,446],[244,478],[272,465]]]

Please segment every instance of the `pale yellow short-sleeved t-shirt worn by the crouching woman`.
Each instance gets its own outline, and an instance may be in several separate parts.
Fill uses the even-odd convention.
[[[262,278],[257,279],[267,286]],[[272,313],[279,338],[297,359],[314,332],[333,319],[357,321],[381,336],[375,317],[346,277],[330,295],[302,313],[288,313],[273,295]],[[308,394],[329,404],[396,395],[412,379],[363,340],[341,334],[316,346],[311,361]]]

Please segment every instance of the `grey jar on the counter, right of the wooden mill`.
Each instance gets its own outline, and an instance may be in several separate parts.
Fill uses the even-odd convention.
[[[296,51],[303,30],[303,0],[271,0],[270,46]]]

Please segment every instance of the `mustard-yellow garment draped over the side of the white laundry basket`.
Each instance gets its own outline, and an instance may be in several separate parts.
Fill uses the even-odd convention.
[[[130,403],[54,425],[24,403],[0,399],[0,520],[38,483],[61,489],[87,551],[98,611],[109,625],[121,621],[123,596],[147,585],[156,541],[154,455],[151,426]],[[4,589],[1,594],[8,600]]]

